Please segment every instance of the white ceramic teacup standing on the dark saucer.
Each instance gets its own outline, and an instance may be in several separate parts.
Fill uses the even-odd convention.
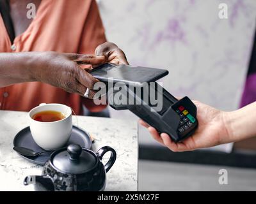
[[[65,118],[54,122],[40,122],[33,119],[33,115],[44,111],[61,112],[65,115]],[[58,103],[43,103],[29,112],[29,127],[38,146],[45,150],[58,149],[63,147],[70,138],[72,110],[70,107]]]

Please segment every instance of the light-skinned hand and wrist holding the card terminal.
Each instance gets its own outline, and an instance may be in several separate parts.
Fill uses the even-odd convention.
[[[173,142],[166,133],[159,134],[143,120],[140,120],[140,124],[148,128],[157,142],[173,152],[213,147],[256,136],[256,102],[232,112],[224,112],[199,101],[193,102],[197,108],[198,129],[182,142]]]

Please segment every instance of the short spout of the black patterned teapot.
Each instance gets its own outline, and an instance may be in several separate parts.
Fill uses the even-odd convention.
[[[29,184],[35,185],[36,191],[54,191],[54,184],[52,180],[46,175],[38,176],[32,175],[24,179],[23,184],[28,186]]]

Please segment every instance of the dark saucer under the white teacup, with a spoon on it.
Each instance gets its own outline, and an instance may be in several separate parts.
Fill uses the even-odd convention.
[[[77,128],[76,126],[73,126],[71,136],[67,142],[67,145],[70,143],[76,143],[80,145],[83,148],[90,149],[92,145],[92,140],[86,131]],[[41,152],[44,149],[36,145],[35,141],[33,140],[33,137],[31,135],[29,127],[22,129],[17,133],[13,140],[13,146],[14,147],[26,147],[28,149],[33,149],[35,152]],[[51,156],[52,152],[46,152],[44,154],[41,154],[37,157],[28,157],[28,156],[22,156],[24,159],[28,160],[31,163],[34,164],[40,164],[44,165],[46,161],[48,161],[49,157]]]

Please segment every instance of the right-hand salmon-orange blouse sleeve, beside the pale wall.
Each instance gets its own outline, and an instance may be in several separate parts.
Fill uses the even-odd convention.
[[[94,54],[95,48],[106,42],[105,29],[100,18],[99,8],[95,0],[92,0],[88,11],[88,17],[84,22],[83,34],[79,53]],[[92,99],[82,98],[82,103],[91,112],[100,112],[107,105],[95,105]]]

